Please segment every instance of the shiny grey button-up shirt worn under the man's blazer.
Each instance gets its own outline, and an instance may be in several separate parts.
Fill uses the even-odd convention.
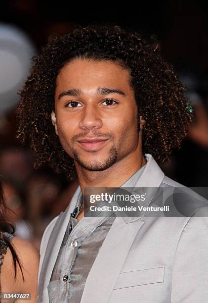
[[[145,165],[122,187],[134,187]],[[50,303],[80,303],[86,278],[116,216],[83,217],[76,219],[82,205],[79,196],[52,271],[48,294]],[[110,252],[109,252],[110,253]]]

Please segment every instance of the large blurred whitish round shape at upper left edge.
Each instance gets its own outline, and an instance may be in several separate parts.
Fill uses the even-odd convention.
[[[0,23],[0,112],[12,109],[19,101],[36,48],[27,35],[14,25]]]

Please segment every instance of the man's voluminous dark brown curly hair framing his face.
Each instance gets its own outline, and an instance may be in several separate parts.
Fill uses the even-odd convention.
[[[143,126],[143,153],[159,163],[180,148],[193,120],[185,87],[160,53],[160,44],[117,25],[77,27],[67,35],[52,35],[31,68],[17,107],[17,138],[36,152],[35,167],[45,162],[74,179],[74,160],[63,150],[51,123],[56,77],[72,59],[110,60],[129,70],[130,85]]]

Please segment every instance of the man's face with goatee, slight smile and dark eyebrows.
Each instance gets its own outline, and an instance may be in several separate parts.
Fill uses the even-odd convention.
[[[104,170],[138,147],[129,72],[110,61],[74,59],[56,79],[52,121],[76,166]]]

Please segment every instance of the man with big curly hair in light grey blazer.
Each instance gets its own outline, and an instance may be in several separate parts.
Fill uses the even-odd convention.
[[[21,92],[18,137],[36,151],[36,166],[48,161],[80,184],[42,237],[38,302],[206,302],[202,197],[181,189],[194,205],[188,216],[83,216],[86,188],[181,186],[156,161],[180,146],[192,108],[158,43],[118,26],[89,26],[49,38],[35,61]],[[143,206],[157,203],[157,192]]]

